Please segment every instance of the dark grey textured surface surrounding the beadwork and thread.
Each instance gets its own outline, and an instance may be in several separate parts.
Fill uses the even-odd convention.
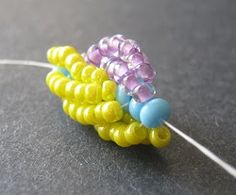
[[[236,165],[236,1],[1,0],[0,58],[45,61],[106,35],[140,42],[170,122]],[[119,148],[63,114],[48,70],[0,67],[0,194],[235,194],[235,180],[173,134]]]

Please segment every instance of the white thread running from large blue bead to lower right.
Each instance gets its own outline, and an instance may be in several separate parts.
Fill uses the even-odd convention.
[[[226,172],[228,172],[230,175],[232,175],[234,178],[236,178],[236,169],[231,166],[230,164],[226,163],[222,159],[220,159],[218,156],[216,156],[213,152],[208,150],[203,145],[199,144],[197,141],[189,137],[188,135],[184,134],[182,131],[168,123],[167,121],[164,121],[165,125],[168,126],[170,129],[172,129],[175,133],[177,133],[179,136],[184,138],[188,143],[195,146],[198,150],[200,150],[203,154],[205,154],[208,158],[213,160],[216,164],[218,164],[220,167],[222,167]]]

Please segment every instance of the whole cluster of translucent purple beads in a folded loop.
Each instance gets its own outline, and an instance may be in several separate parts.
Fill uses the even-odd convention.
[[[123,85],[136,101],[145,102],[156,94],[152,85],[156,72],[134,40],[123,35],[104,37],[92,45],[84,57],[105,69],[110,79]]]

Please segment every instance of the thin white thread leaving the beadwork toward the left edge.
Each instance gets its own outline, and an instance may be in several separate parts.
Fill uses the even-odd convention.
[[[36,62],[31,60],[8,60],[8,59],[0,59],[0,64],[3,65],[22,65],[22,66],[35,66],[42,68],[50,68],[53,69],[55,66],[45,62]]]

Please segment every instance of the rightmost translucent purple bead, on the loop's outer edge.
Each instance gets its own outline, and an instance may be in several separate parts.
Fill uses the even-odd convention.
[[[150,64],[140,64],[136,67],[136,76],[144,80],[144,82],[152,83],[155,79],[156,72]]]

